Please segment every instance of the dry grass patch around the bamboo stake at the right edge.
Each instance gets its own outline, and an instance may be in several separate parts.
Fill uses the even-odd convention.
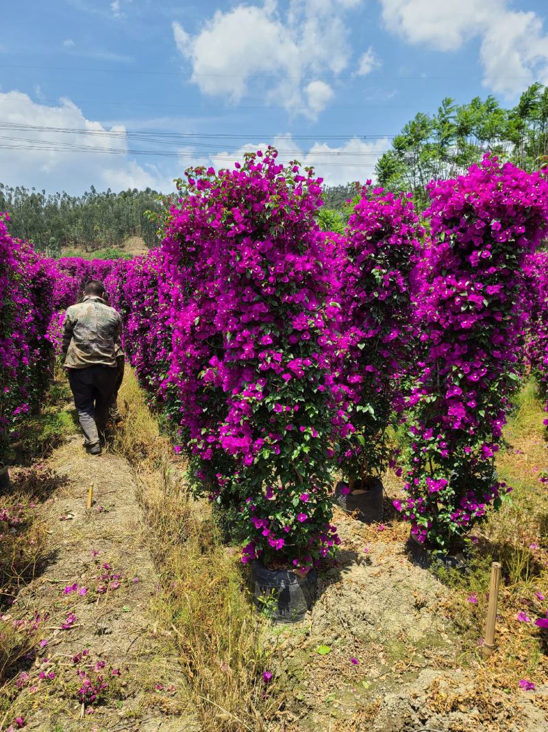
[[[539,482],[546,466],[547,444],[542,424],[544,411],[528,384],[517,397],[514,414],[505,430],[508,447],[497,460],[500,479],[514,490],[501,510],[475,531],[468,574],[447,572],[443,579],[456,591],[446,610],[463,632],[463,665],[471,667],[471,686],[460,706],[473,709],[490,704],[515,704],[520,679],[544,684],[548,675],[545,631],[534,620],[548,610],[548,490]],[[502,564],[495,651],[481,660],[487,596],[492,561]],[[541,593],[546,600],[539,600]],[[473,600],[477,600],[473,602]],[[530,622],[517,619],[525,613]],[[462,695],[460,695],[462,697]],[[539,699],[539,702],[541,700]],[[452,703],[433,689],[433,704],[443,711]]]

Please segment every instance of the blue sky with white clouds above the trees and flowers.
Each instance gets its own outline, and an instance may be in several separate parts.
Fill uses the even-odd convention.
[[[365,180],[443,97],[548,83],[546,0],[27,0],[4,4],[0,182],[172,190],[274,142]]]

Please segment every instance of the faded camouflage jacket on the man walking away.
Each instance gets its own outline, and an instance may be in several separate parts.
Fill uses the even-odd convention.
[[[122,354],[121,318],[113,307],[95,295],[86,295],[82,302],[66,310],[63,322],[63,356],[65,368],[116,366]]]

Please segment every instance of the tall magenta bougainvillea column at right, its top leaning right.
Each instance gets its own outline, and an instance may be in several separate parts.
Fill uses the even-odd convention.
[[[406,495],[395,506],[416,539],[448,550],[508,490],[494,457],[520,381],[522,266],[548,231],[548,182],[486,156],[429,193],[415,313],[426,356],[407,400]]]

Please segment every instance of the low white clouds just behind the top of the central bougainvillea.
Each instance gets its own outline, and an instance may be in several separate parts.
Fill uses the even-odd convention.
[[[272,144],[278,149],[278,160],[289,163],[290,160],[299,160],[301,165],[313,165],[316,175],[321,176],[327,185],[345,184],[359,180],[365,182],[375,177],[375,164],[381,154],[389,149],[389,138],[382,138],[371,142],[351,138],[340,147],[331,147],[327,143],[316,142],[308,151],[303,150],[300,144],[289,134],[278,135]],[[232,168],[233,163],[243,160],[246,152],[265,150],[267,143],[247,143],[234,152],[219,152],[203,155],[195,152],[192,146],[180,150],[181,168],[195,165],[213,165],[219,168]]]

